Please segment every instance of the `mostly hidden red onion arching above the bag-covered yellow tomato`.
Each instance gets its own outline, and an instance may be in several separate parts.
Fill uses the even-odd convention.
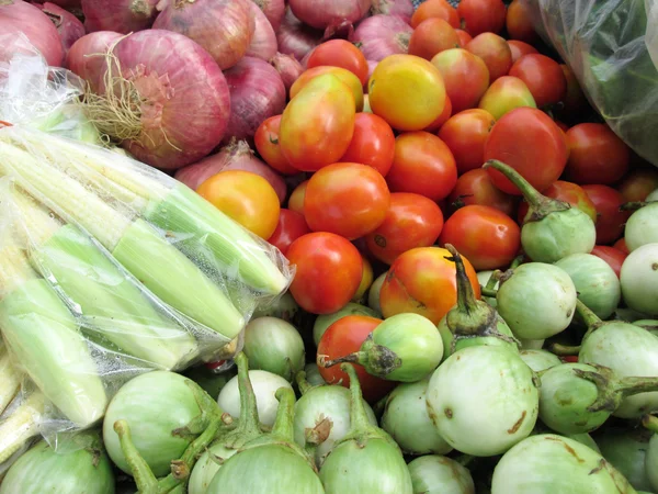
[[[245,141],[232,141],[224,146],[216,155],[208,156],[194,165],[181,168],[173,178],[183,182],[190,189],[198,186],[220,171],[245,170],[264,178],[283,202],[286,195],[286,184],[283,178],[271,167],[253,156],[253,151]]]

